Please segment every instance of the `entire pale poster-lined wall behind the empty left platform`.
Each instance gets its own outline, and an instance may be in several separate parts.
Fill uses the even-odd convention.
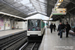
[[[15,21],[8,18],[0,18],[0,31],[11,30],[12,27],[15,29],[25,29],[27,30],[27,21]]]

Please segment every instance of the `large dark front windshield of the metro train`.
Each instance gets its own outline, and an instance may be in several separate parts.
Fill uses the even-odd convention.
[[[40,31],[41,20],[28,20],[28,30],[29,31]]]

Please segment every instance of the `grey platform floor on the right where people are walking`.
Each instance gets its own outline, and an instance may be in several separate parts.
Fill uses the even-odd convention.
[[[39,50],[75,50],[74,36],[69,35],[66,38],[66,33],[63,33],[63,37],[60,38],[57,34],[57,31],[50,33],[50,29],[47,29]]]

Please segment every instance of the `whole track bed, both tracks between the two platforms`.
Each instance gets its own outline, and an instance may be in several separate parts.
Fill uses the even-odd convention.
[[[0,50],[38,50],[39,45],[28,42],[26,32],[0,39]]]

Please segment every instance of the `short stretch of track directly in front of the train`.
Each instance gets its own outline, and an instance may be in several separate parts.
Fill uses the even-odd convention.
[[[38,50],[40,43],[26,42],[19,50]]]

